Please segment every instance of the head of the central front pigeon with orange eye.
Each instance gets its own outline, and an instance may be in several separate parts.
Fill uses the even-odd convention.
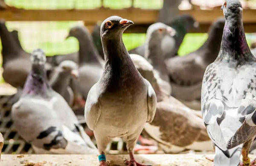
[[[134,24],[131,20],[123,19],[118,16],[108,17],[102,22],[100,31],[102,37],[120,36],[120,34]],[[118,35],[119,34],[119,35]]]

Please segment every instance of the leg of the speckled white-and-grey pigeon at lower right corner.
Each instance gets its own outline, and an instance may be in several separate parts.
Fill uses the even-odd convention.
[[[252,162],[250,162],[250,157],[248,157],[250,145],[253,142],[253,139],[248,140],[244,143],[244,146],[242,148],[242,162],[240,162],[240,166],[256,166],[254,165],[256,163],[256,160],[254,159]]]

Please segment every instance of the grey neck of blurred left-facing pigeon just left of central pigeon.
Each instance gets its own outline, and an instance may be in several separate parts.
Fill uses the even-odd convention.
[[[79,63],[99,63],[99,54],[93,40],[87,34],[77,37],[79,41]]]

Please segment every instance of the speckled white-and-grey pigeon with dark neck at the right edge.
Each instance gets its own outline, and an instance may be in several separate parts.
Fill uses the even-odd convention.
[[[202,115],[215,166],[255,166],[248,153],[256,137],[256,58],[246,41],[240,0],[225,0],[221,10],[226,23],[218,57],[204,73]]]

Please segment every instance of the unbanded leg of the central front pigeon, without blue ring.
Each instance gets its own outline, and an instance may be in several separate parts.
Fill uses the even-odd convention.
[[[137,161],[134,158],[133,150],[136,145],[136,141],[137,139],[127,141],[127,149],[130,155],[130,160],[125,160],[125,164],[127,164],[128,166],[148,166],[148,165],[137,163]]]

